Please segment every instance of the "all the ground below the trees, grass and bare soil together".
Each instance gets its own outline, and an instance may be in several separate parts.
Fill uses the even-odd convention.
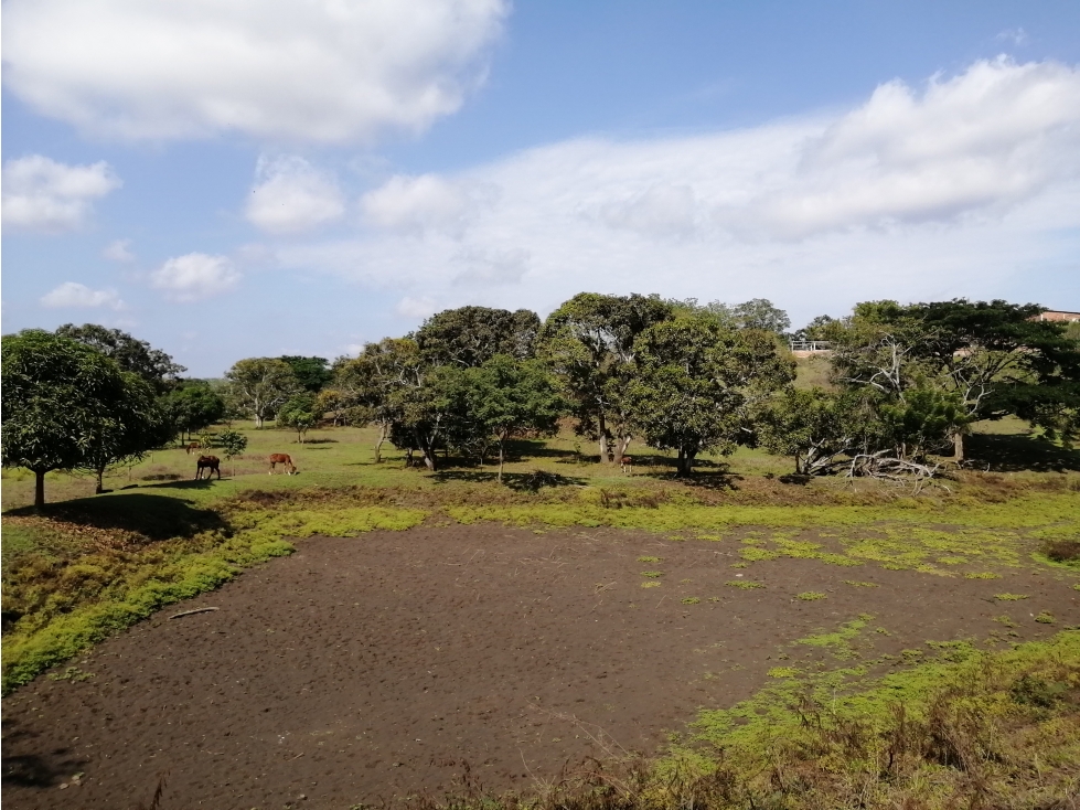
[[[11,807],[944,807],[973,774],[1035,807],[1080,778],[1080,458],[1022,424],[918,493],[752,450],[680,481],[632,447],[628,476],[569,434],[504,486],[375,465],[367,429],[247,435],[221,481],[158,451],[104,495],[50,476],[40,515],[4,471]],[[911,729],[942,689],[983,725],[939,756]]]

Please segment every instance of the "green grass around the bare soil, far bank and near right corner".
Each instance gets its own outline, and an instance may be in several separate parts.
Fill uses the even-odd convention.
[[[40,514],[28,505],[29,473],[4,470],[6,693],[165,605],[291,553],[293,539],[421,523],[495,521],[538,531],[619,526],[725,543],[738,550],[737,567],[751,569],[747,583],[753,582],[756,566],[784,557],[849,568],[853,587],[865,584],[860,568],[880,566],[977,579],[1031,568],[1080,590],[1077,559],[1055,551],[1071,548],[1080,537],[1080,452],[1031,436],[1017,420],[981,425],[969,443],[972,469],[918,493],[840,477],[794,480],[788,459],[745,449],[707,457],[692,479],[678,480],[669,456],[631,447],[634,472],[623,475],[597,463],[594,446],[573,434],[515,443],[499,484],[494,468],[478,459],[451,458],[430,473],[406,469],[404,455],[387,445],[376,465],[371,429],[312,430],[302,445],[288,431],[242,429],[248,449],[223,461],[220,481],[191,480],[195,456],[160,450],[111,471],[106,477],[111,491],[101,495],[92,494],[89,477],[49,476],[49,505]],[[299,473],[268,476],[270,452],[291,454]],[[834,633],[837,644],[846,643],[845,632],[862,629],[853,627]],[[1056,640],[1018,652],[912,661],[899,680],[868,682],[840,705],[825,700],[827,678],[835,673],[808,679],[778,667],[771,673],[776,685],[758,703],[702,715],[701,738],[693,746],[674,746],[648,766],[612,764],[632,789],[620,792],[614,782],[605,782],[602,801],[596,796],[594,801],[588,790],[597,786],[586,780],[535,801],[674,808],[685,806],[682,790],[713,807],[748,807],[747,797],[758,797],[755,807],[847,807],[862,790],[873,799],[866,807],[899,807],[907,799],[922,802],[910,807],[945,807],[949,797],[963,792],[950,756],[977,761],[986,796],[1001,795],[1016,768],[1031,772],[1033,761],[1045,765],[1054,757],[1076,761],[1076,637],[1062,630]],[[886,697],[895,699],[898,690],[907,690],[912,712],[907,725],[888,708],[895,700]],[[981,725],[969,722],[970,712],[950,715],[958,705],[985,708]],[[755,717],[770,720],[762,725]],[[942,755],[944,760],[933,747],[932,723],[944,722],[941,717],[951,717],[960,729],[950,743],[954,755]],[[776,745],[778,728],[787,729],[782,749]],[[1001,745],[980,747],[972,742],[979,735],[996,735]],[[717,745],[726,746],[727,758],[703,754]],[[888,759],[889,745],[902,748],[902,761],[894,761],[895,754]],[[1002,752],[1024,765],[1001,766]],[[1052,779],[1025,782],[1025,796],[1041,801],[1080,778],[1074,768],[1052,772]],[[776,779],[782,789],[776,789]],[[819,803],[798,799],[800,790]],[[492,798],[460,801],[490,806]]]

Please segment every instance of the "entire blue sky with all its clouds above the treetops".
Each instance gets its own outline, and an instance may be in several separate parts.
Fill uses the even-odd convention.
[[[8,0],[3,331],[202,376],[581,290],[1080,309],[1080,3]]]

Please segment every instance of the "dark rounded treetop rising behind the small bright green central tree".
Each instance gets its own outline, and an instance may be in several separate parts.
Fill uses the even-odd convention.
[[[413,339],[429,365],[473,369],[496,354],[533,356],[539,329],[539,317],[527,309],[459,307],[428,318]]]

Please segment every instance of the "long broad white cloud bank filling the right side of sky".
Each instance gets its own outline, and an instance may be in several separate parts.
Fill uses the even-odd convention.
[[[1046,295],[1026,285],[1033,268],[1078,269],[1080,70],[979,62],[919,90],[884,84],[846,113],[577,139],[420,180],[364,198],[381,227],[279,246],[279,263],[440,307],[544,311],[585,289],[635,290],[763,296],[798,321],[1006,284],[1031,300]]]

